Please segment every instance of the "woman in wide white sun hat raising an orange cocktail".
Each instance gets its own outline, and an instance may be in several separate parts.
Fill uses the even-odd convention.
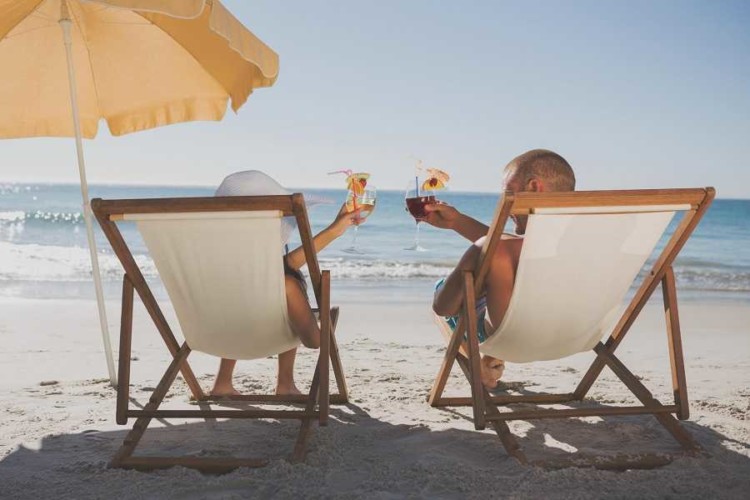
[[[289,195],[291,191],[282,187],[274,179],[259,170],[247,170],[227,176],[216,190],[216,196],[262,196]],[[308,202],[308,206],[311,203]],[[347,212],[344,204],[331,224],[313,238],[315,252],[320,252],[333,240],[344,234],[352,224],[360,222],[359,210]],[[289,241],[295,227],[293,217],[285,217],[282,222],[282,245]],[[305,252],[299,247],[284,256],[286,302],[292,330],[299,336],[305,347],[320,347],[320,327],[307,300],[305,278],[300,268],[305,265]],[[276,394],[301,394],[294,385],[294,360],[297,349],[279,354],[279,371]],[[232,374],[237,360],[222,359],[216,375],[212,396],[239,394],[232,385]]]

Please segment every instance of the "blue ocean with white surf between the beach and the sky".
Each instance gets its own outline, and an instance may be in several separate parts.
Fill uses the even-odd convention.
[[[322,202],[309,211],[314,231],[333,219],[346,195],[343,190],[301,191]],[[90,193],[92,198],[182,197],[210,196],[213,189],[93,185]],[[446,191],[440,198],[489,223],[499,196]],[[144,275],[163,294],[134,225],[121,228]],[[351,251],[350,229],[320,254],[321,266],[343,286],[429,286],[426,282],[450,272],[468,242],[421,224],[425,250],[409,250],[415,228],[403,192],[379,191],[376,210],[357,231],[357,251]],[[96,231],[105,292],[116,299],[123,271],[98,227]],[[683,249],[675,272],[681,296],[750,303],[750,200],[716,200]],[[0,184],[0,296],[93,298],[77,185]]]

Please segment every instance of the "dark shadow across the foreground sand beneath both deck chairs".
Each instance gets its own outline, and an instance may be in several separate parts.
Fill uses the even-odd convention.
[[[514,390],[525,391],[522,386]],[[416,420],[394,425],[357,405],[332,407],[328,427],[315,426],[307,460],[296,465],[287,461],[299,426],[291,421],[154,423],[137,451],[270,460],[267,467],[222,476],[181,467],[150,473],[108,469],[129,427],[52,435],[38,449],[20,447],[0,461],[0,498],[565,497],[604,491],[615,496],[740,497],[750,488],[747,444],[695,422],[684,425],[709,457],[683,457],[657,470],[620,474],[521,466],[507,456],[493,432],[469,430],[463,419],[470,409],[430,411],[451,422],[432,428]],[[570,456],[572,451],[680,453],[651,416],[511,425],[530,459]],[[455,428],[459,426],[464,429]]]

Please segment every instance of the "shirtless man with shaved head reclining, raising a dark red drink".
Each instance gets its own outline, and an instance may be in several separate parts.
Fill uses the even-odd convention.
[[[562,156],[546,149],[528,151],[514,158],[505,167],[503,191],[519,193],[574,189],[575,174],[571,166]],[[453,272],[436,286],[432,308],[436,314],[445,316],[448,323],[455,328],[463,300],[462,273],[465,270],[474,270],[489,228],[445,203],[427,205],[425,211],[425,222],[438,228],[452,229],[473,243]],[[523,238],[520,235],[526,232],[527,217],[511,218],[519,236],[503,235],[494,254],[487,256],[490,259],[489,272],[483,293],[479,294],[476,304],[477,333],[480,342],[500,326],[513,293],[516,269],[523,246]],[[464,352],[467,352],[466,349],[464,345]],[[488,389],[494,389],[505,369],[504,362],[491,356],[483,356],[480,366],[482,383]]]

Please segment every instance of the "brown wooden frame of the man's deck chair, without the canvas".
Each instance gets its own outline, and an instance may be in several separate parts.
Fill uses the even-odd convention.
[[[473,421],[477,430],[484,429],[487,422],[498,434],[508,454],[522,464],[529,463],[521,450],[518,441],[508,428],[509,420],[531,420],[541,418],[564,418],[583,416],[635,415],[652,414],[682,445],[688,453],[701,451],[698,443],[680,425],[678,419],[689,416],[687,384],[680,336],[680,321],[677,309],[672,263],[685,242],[701,220],[715,196],[713,188],[705,189],[669,189],[669,190],[631,190],[631,191],[578,191],[569,193],[511,193],[507,192],[498,204],[492,225],[481,249],[480,257],[474,271],[464,273],[463,308],[455,331],[450,332],[450,341],[437,378],[428,397],[431,406],[472,406]],[[505,223],[511,215],[529,215],[536,209],[569,208],[569,207],[609,207],[609,206],[655,206],[655,205],[690,205],[679,225],[656,259],[651,272],[645,277],[629,306],[620,317],[605,342],[599,342],[594,351],[596,359],[589,367],[576,389],[564,394],[538,395],[490,395],[480,379],[480,353],[477,338],[477,315],[474,308],[475,296],[483,289],[484,280],[489,270],[488,255],[492,255],[500,240]],[[615,355],[620,345],[638,317],[646,302],[661,284],[666,318],[669,357],[672,371],[672,388],[674,404],[662,404]],[[438,318],[441,327],[449,328],[442,318]],[[468,332],[468,353],[460,352],[461,340]],[[454,362],[458,362],[471,387],[471,397],[444,397],[443,391]],[[514,403],[553,405],[582,401],[591,386],[608,366],[615,375],[630,389],[642,403],[640,406],[568,408],[568,409],[534,409],[500,412],[499,406]],[[649,468],[664,465],[671,461],[663,455],[615,456],[611,459],[595,457],[594,460],[577,460],[557,464],[558,466],[595,466],[604,469]],[[555,464],[541,463],[555,466]]]

